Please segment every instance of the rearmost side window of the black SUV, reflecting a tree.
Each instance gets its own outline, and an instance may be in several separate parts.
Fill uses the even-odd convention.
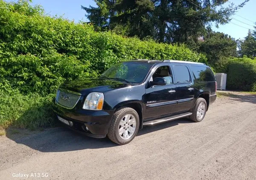
[[[193,73],[194,79],[198,82],[215,81],[212,70],[208,67],[190,66],[190,69]]]

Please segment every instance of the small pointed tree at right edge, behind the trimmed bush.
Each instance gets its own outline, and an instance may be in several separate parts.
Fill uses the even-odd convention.
[[[248,35],[244,38],[244,41],[241,42],[241,55],[246,55],[252,59],[256,57],[256,37],[253,36],[250,30],[248,31]]]

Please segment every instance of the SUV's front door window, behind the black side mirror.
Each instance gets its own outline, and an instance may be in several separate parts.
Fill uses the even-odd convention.
[[[156,77],[163,77],[166,80],[167,85],[173,84],[172,72],[169,66],[160,66],[159,68],[157,68],[154,74],[152,75],[151,80],[153,80]]]

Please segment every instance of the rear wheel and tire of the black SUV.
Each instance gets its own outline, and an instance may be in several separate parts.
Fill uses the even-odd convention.
[[[203,110],[203,111],[202,111]],[[204,98],[199,97],[192,109],[192,115],[189,118],[195,122],[201,122],[204,119],[207,110],[207,103]],[[204,113],[203,113],[204,112]]]

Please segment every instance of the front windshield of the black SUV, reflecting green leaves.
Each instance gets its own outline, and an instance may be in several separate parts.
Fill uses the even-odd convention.
[[[122,62],[105,71],[102,76],[131,83],[142,83],[152,65],[146,63]]]

